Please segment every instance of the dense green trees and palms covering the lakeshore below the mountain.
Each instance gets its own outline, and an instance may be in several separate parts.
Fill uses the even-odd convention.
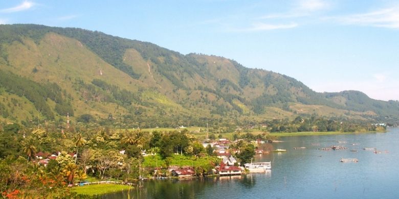
[[[212,174],[220,163],[215,148],[207,145],[219,138],[238,140],[226,150],[244,164],[250,162],[256,149],[268,150],[256,140],[384,131],[385,126],[315,115],[242,127],[212,123],[208,128],[156,129],[115,129],[93,122],[48,122],[39,128],[0,123],[0,191],[3,196],[36,197],[40,190],[43,197],[72,197],[74,192],[68,187],[87,178],[92,182],[136,182],[169,177],[169,166],[192,167],[196,176],[204,176]],[[288,133],[292,130],[304,131]]]

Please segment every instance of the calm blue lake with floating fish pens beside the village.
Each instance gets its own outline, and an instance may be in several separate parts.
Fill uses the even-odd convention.
[[[150,180],[143,188],[103,198],[397,198],[399,195],[399,128],[387,133],[283,137],[272,143],[286,153],[256,156],[272,170],[239,177]],[[339,141],[341,143],[339,143]],[[346,142],[346,143],[344,143]],[[353,143],[359,145],[352,145]],[[342,145],[347,150],[316,148]],[[294,147],[306,147],[294,150]],[[363,148],[389,153],[374,154]],[[358,152],[350,150],[358,149]],[[357,158],[359,162],[340,162]]]

